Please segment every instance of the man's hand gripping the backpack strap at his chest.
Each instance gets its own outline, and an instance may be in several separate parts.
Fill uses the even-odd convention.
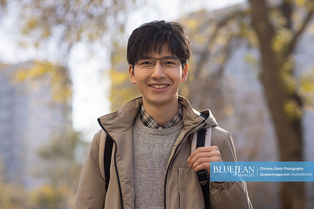
[[[214,161],[222,162],[217,146],[199,147],[187,159],[187,162],[190,162],[189,168],[192,167],[194,171],[207,169],[208,173],[210,173],[210,162]]]

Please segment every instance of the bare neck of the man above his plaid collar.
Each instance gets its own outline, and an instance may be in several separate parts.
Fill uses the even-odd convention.
[[[143,97],[145,111],[160,125],[169,123],[179,111],[178,96],[173,97],[169,102],[158,104],[147,101]]]

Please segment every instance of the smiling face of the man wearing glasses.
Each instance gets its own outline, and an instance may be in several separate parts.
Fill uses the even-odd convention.
[[[168,50],[168,44],[163,44],[161,54],[155,52],[154,54],[147,55],[145,57],[161,59],[165,57],[178,56],[171,55]],[[140,63],[138,62],[138,64]],[[179,59],[179,65],[175,68],[163,68],[160,65],[160,60],[156,60],[153,68],[139,68],[138,64],[135,63],[134,73],[132,65],[129,66],[129,74],[131,82],[133,84],[136,83],[139,91],[143,95],[143,100],[154,104],[165,104],[174,98],[178,98],[179,85],[187,79],[187,64],[183,69],[181,59]],[[153,84],[167,84],[168,86],[164,88],[154,88],[152,86]]]

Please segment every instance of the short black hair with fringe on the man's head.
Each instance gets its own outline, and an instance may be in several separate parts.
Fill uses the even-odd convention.
[[[153,52],[160,54],[165,43],[168,44],[172,55],[182,59],[183,68],[191,55],[190,39],[182,24],[164,20],[144,23],[133,30],[127,43],[128,64],[132,65],[134,71],[134,59]]]

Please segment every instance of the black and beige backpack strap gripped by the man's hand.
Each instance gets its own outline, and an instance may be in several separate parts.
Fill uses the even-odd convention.
[[[201,113],[201,116],[205,119],[207,117]],[[191,146],[191,154],[198,148],[198,147],[208,147],[211,145],[211,138],[212,138],[212,127],[205,128],[207,123],[204,124],[204,128],[200,128],[197,132],[193,133],[192,138],[192,146]],[[198,180],[200,182],[204,202],[205,202],[205,209],[210,209],[210,202],[209,202],[209,174],[208,171],[205,169],[199,170],[196,172],[198,176]]]

